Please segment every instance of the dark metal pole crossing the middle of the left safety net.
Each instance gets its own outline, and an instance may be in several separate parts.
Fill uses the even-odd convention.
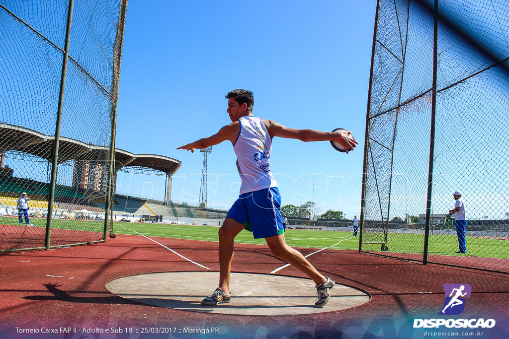
[[[56,112],[55,139],[53,141],[53,152],[51,158],[51,179],[49,182],[48,216],[46,218],[46,236],[44,240],[46,250],[49,250],[51,239],[51,219],[53,215],[53,201],[55,198],[56,171],[58,169],[59,144],[60,144],[60,126],[62,124],[62,111],[64,108],[65,78],[67,75],[67,61],[69,60],[69,44],[71,40],[71,23],[74,0],[69,0],[69,9],[67,11],[67,27],[65,33],[64,57],[62,60],[62,74],[60,77],[59,105]]]

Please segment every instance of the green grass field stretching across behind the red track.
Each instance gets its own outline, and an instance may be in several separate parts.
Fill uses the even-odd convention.
[[[2,224],[19,225],[17,218],[0,218]],[[45,219],[32,219],[38,227],[46,227]],[[101,232],[104,222],[84,220],[58,220],[51,223],[52,228],[76,229]],[[218,241],[218,227],[214,226],[191,226],[169,224],[138,224],[138,223],[114,223],[116,234],[142,233],[148,237],[168,237],[178,239]],[[370,234],[373,237],[374,234]],[[381,238],[381,234],[379,234]],[[387,246],[389,252],[399,253],[422,253],[423,235],[411,233],[389,233]],[[314,230],[291,230],[287,229],[285,238],[289,245],[303,248],[358,250],[359,237],[352,237],[351,232],[341,231],[314,231]],[[341,242],[340,242],[341,241]],[[252,233],[243,230],[235,238],[237,243],[265,244],[264,239],[253,239]],[[339,243],[338,243],[339,242]],[[364,244],[365,251],[379,251],[380,244]],[[456,232],[451,235],[430,235],[429,253],[438,255],[475,256],[485,258],[508,258],[509,241],[507,238],[492,239],[487,237],[467,236],[467,254],[456,254],[458,251],[458,238]]]

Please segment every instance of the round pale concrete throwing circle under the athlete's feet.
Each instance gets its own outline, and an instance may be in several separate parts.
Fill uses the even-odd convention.
[[[219,272],[158,272],[124,276],[106,284],[119,297],[168,309],[249,316],[288,316],[334,312],[370,300],[367,292],[337,284],[329,302],[315,307],[310,279],[255,273],[231,273],[232,300],[215,306],[201,302],[217,288]]]

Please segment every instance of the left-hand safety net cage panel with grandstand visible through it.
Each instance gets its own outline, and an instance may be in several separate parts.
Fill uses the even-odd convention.
[[[126,6],[0,0],[0,252],[104,240]]]

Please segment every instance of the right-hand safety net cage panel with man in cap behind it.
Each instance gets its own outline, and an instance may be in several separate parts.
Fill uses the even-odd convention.
[[[362,252],[508,271],[508,57],[507,1],[378,1]]]

